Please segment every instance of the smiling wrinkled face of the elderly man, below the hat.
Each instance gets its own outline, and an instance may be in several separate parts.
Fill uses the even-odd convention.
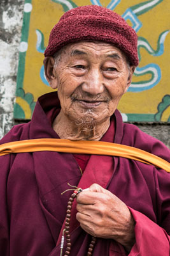
[[[134,68],[124,53],[103,42],[78,42],[64,47],[53,69],[61,115],[71,121],[105,122],[131,84]]]

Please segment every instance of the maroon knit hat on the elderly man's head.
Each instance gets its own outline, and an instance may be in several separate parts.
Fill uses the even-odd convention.
[[[117,13],[96,5],[80,6],[62,15],[50,33],[45,57],[69,43],[88,40],[115,45],[131,65],[138,66],[138,36],[134,29]]]

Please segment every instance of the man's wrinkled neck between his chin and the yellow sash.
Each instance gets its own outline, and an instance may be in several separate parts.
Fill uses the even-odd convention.
[[[110,127],[110,118],[99,124],[96,122],[80,124],[69,120],[67,116],[62,115],[60,112],[53,121],[52,127],[60,139],[101,140]]]

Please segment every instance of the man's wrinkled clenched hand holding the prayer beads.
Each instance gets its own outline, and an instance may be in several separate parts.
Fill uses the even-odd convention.
[[[77,196],[76,219],[81,228],[95,237],[115,239],[130,252],[135,243],[134,219],[128,207],[117,196],[92,184]]]

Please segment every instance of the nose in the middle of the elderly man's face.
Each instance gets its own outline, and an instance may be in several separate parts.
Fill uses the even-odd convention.
[[[85,83],[82,84],[82,90],[92,95],[103,93],[104,91],[103,76],[100,70],[94,69],[88,73],[89,74],[87,74]]]

